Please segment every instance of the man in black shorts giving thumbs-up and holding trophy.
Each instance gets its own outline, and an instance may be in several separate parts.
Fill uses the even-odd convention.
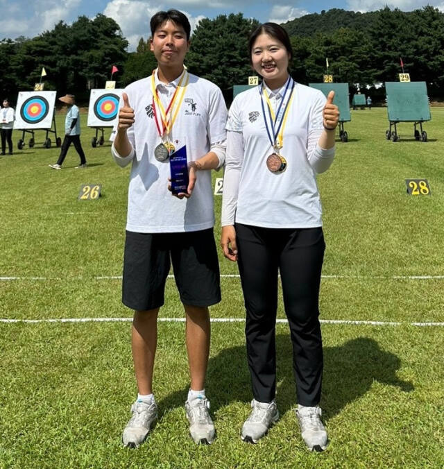
[[[196,443],[214,439],[205,396],[208,307],[220,301],[221,292],[210,170],[225,160],[227,111],[221,90],[184,67],[190,35],[187,17],[177,10],[157,12],[151,18],[151,35],[158,67],[152,76],[124,90],[112,145],[119,166],[133,163],[122,298],[135,310],[132,344],[139,395],[123,430],[128,447],[143,443],[157,418],[152,388],[157,314],[164,303],[170,257],[186,316],[189,432]],[[179,153],[187,158],[189,184],[174,190],[170,160]]]

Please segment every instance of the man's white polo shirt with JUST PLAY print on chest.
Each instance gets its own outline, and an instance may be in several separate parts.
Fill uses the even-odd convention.
[[[179,78],[164,84],[158,80],[157,71],[155,73],[155,85],[165,109],[178,86]],[[154,120],[151,76],[131,83],[123,91],[135,111],[135,123],[127,132],[135,152],[133,158],[121,158],[113,146],[112,153],[117,164],[122,167],[130,160],[133,161],[126,229],[156,233],[212,228],[214,204],[211,171],[197,171],[193,194],[190,198],[180,200],[168,190],[169,159],[164,162],[155,159],[154,149],[162,139]],[[120,100],[119,108],[122,105],[123,99]],[[159,115],[157,119],[160,123]],[[185,142],[188,162],[195,161],[206,155],[213,145],[221,142],[225,145],[226,120],[227,109],[219,87],[204,78],[189,74],[189,83],[169,139],[173,144],[177,141]],[[112,140],[116,132],[117,125],[114,126]],[[225,151],[218,157],[221,166]]]

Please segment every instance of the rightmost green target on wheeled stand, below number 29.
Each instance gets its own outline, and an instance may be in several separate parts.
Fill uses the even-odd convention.
[[[385,83],[387,94],[387,114],[390,128],[386,130],[386,139],[399,142],[401,137],[413,137],[415,140],[427,142],[427,132],[422,123],[432,119],[425,81],[407,83]],[[400,122],[413,123],[413,136],[398,133]],[[419,128],[418,128],[419,126]]]

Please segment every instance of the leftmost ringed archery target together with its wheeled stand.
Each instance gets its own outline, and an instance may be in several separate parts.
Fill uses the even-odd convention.
[[[35,130],[45,130],[44,148],[51,148],[49,133],[55,135],[57,146],[62,144],[62,139],[57,137],[56,117],[54,114],[56,93],[55,91],[19,92],[14,123],[16,130],[22,130],[22,138],[17,142],[19,150],[22,150],[25,146],[25,136],[27,133],[31,134],[28,140],[29,148],[35,146]]]

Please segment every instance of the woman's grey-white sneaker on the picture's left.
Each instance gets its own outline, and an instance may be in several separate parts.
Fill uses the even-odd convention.
[[[279,420],[279,411],[274,399],[271,402],[257,402],[253,399],[251,407],[253,410],[242,426],[241,438],[248,443],[257,443]]]

